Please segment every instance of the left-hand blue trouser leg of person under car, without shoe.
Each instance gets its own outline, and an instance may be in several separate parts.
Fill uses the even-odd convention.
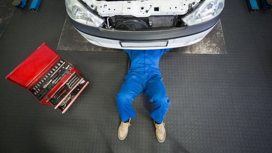
[[[123,122],[135,117],[136,112],[132,108],[133,99],[143,91],[143,83],[133,75],[127,74],[125,81],[116,96],[117,110]]]

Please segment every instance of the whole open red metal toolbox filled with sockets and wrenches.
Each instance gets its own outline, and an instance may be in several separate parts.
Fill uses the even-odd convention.
[[[41,44],[6,79],[26,88],[40,103],[65,113],[89,82],[47,44]]]

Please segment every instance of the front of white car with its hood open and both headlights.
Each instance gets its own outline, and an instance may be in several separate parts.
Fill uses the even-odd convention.
[[[225,0],[65,0],[75,29],[90,43],[120,49],[163,49],[201,41]]]

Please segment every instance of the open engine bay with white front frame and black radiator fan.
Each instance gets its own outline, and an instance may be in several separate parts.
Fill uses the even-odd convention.
[[[82,0],[89,9],[103,17],[103,28],[152,30],[181,27],[181,18],[202,0]]]

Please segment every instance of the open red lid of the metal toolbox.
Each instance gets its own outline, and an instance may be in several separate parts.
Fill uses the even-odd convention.
[[[60,56],[47,44],[43,43],[5,78],[28,89],[59,59]]]

